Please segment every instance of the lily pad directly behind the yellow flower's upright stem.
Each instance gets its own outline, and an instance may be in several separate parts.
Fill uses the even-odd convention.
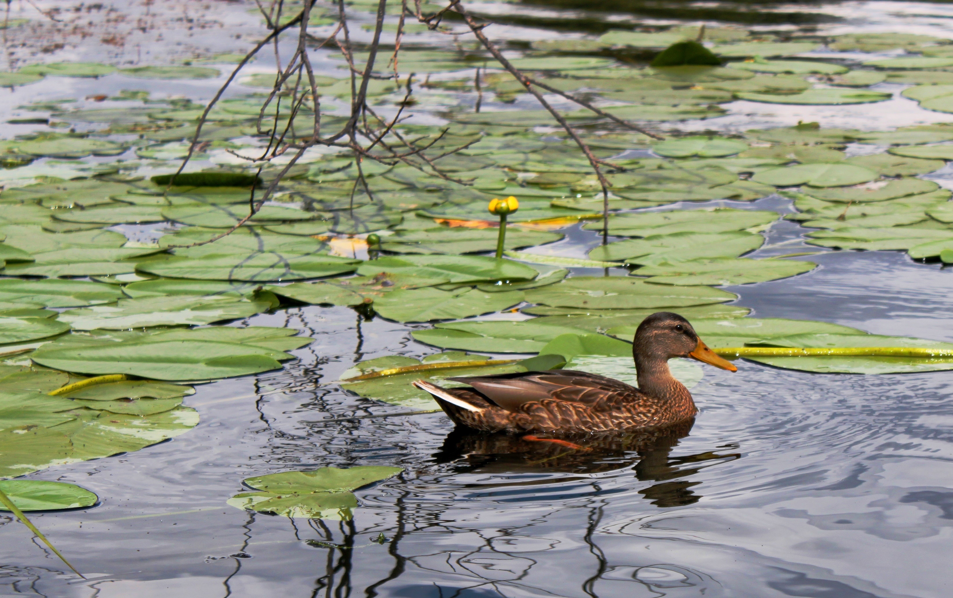
[[[398,231],[384,237],[381,249],[395,253],[476,253],[497,249],[498,228],[436,229]],[[553,243],[563,238],[558,232],[510,227],[504,247],[518,249]]]

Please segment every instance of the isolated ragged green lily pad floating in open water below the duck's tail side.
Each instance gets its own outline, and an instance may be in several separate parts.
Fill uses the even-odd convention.
[[[247,478],[244,483],[263,491],[236,494],[228,504],[293,518],[350,519],[351,508],[357,507],[351,490],[394,477],[401,471],[403,468],[359,466],[260,475]]]

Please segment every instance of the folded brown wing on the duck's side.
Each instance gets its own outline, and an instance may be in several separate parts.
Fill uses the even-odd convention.
[[[520,412],[526,403],[563,401],[588,409],[610,409],[618,400],[632,401],[641,393],[625,383],[575,369],[522,371],[495,376],[448,378],[468,384],[488,401],[507,411]]]

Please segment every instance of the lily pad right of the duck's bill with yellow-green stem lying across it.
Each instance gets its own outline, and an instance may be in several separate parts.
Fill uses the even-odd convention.
[[[850,332],[801,333],[752,343],[756,347],[925,347],[930,349],[953,349],[953,344],[922,338],[857,334]],[[868,357],[868,356],[822,356],[822,357],[746,357],[776,368],[801,369],[821,373],[902,373],[912,371],[937,371],[953,369],[951,357]]]

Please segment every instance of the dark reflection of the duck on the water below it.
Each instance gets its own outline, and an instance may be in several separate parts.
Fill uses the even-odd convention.
[[[443,447],[434,454],[437,463],[454,463],[461,473],[600,473],[632,468],[636,479],[659,482],[639,490],[658,507],[681,507],[701,498],[694,490],[700,482],[685,480],[701,467],[690,464],[734,460],[737,452],[713,450],[685,456],[672,456],[679,439],[688,435],[695,420],[654,430],[549,437],[549,434],[517,436],[481,432],[457,426],[447,435]],[[737,448],[726,445],[720,448]],[[687,467],[686,467],[687,466]],[[530,484],[562,484],[567,479],[545,478]],[[512,485],[503,482],[501,486]],[[480,488],[487,488],[481,484]]]

